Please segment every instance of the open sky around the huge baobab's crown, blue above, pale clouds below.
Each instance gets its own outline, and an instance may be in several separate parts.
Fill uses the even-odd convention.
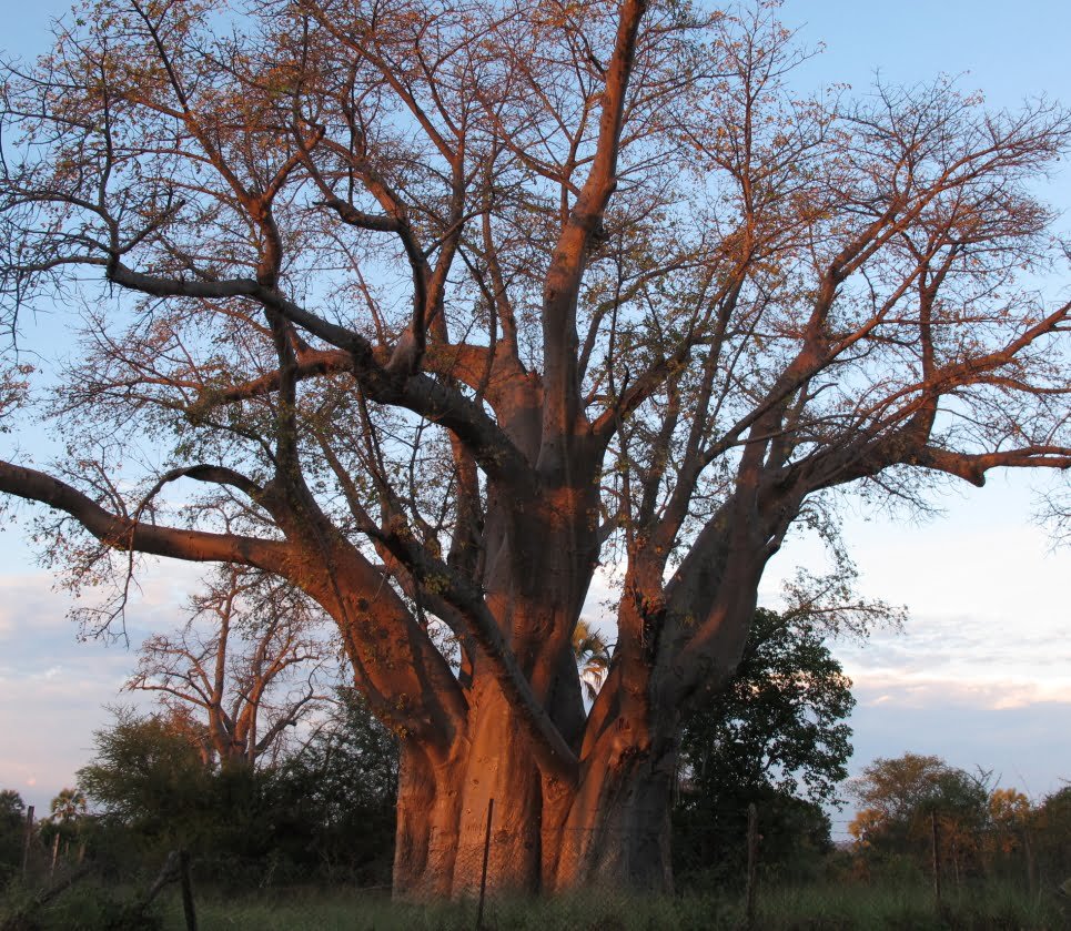
[[[0,0],[0,45],[43,51],[49,18],[67,6]],[[944,72],[981,89],[992,107],[1041,92],[1071,104],[1064,2],[812,0],[786,3],[782,16],[808,44],[826,44],[801,70],[801,87],[847,82],[863,93],[876,72],[889,83]],[[1052,179],[1044,195],[1071,211],[1071,173]],[[1071,229],[1067,215],[1061,225]],[[912,750],[992,768],[1003,785],[1033,796],[1071,779],[1071,551],[1054,550],[1031,522],[1044,486],[1040,476],[996,476],[984,489],[952,494],[942,502],[947,514],[922,525],[848,515],[845,536],[863,591],[911,610],[899,636],[837,647],[859,699],[856,771],[876,756]],[[821,558],[814,540],[791,543],[771,566],[764,600],[776,604],[778,578],[796,564]],[[173,565],[145,576],[130,613],[134,642],[178,620],[196,577],[195,568]],[[87,761],[91,731],[107,719],[101,707],[117,701],[134,662],[122,647],[78,642],[65,619],[70,604],[34,566],[18,528],[0,535],[0,787],[39,806]]]

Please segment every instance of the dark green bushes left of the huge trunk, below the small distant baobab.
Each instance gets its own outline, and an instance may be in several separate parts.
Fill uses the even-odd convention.
[[[316,878],[387,882],[397,749],[352,690],[296,752],[273,766],[220,766],[182,716],[117,712],[80,770],[98,809],[83,828],[105,876],[153,874],[189,850],[195,879],[235,887]]]

